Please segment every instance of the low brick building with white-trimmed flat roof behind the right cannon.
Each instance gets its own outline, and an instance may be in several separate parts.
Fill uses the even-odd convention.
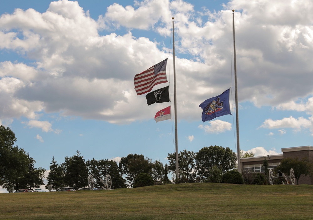
[[[269,162],[268,169],[275,169],[280,161],[284,158],[288,157],[298,157],[298,158],[309,158],[310,161],[313,162],[313,147],[312,146],[301,146],[301,147],[289,147],[282,148],[281,152],[283,154],[278,155],[267,155],[265,156]],[[264,167],[262,167],[264,161],[264,156],[255,156],[255,157],[247,157],[240,158],[240,167],[243,170],[251,170],[254,172],[264,172]],[[313,185],[313,177],[302,175],[299,179],[299,184],[309,184]]]

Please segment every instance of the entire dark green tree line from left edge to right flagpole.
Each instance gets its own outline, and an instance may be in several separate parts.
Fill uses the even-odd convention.
[[[0,127],[0,186],[13,192],[21,188],[34,188],[44,185],[46,169],[35,168],[35,160],[22,148],[13,146],[15,134],[3,125]],[[113,160],[85,161],[79,151],[64,158],[58,164],[54,157],[50,163],[47,185],[53,189],[87,185],[87,178],[93,176],[105,179],[107,174],[112,178],[113,188],[133,187],[140,173],[149,174],[158,184],[203,182],[212,178],[213,171],[222,174],[237,166],[237,156],[228,147],[203,147],[199,152],[183,150],[178,154],[179,176],[176,178],[175,153],[168,153],[168,165],[161,161],[152,161],[142,154],[128,154],[121,158],[119,164]],[[172,172],[172,181],[168,174]]]

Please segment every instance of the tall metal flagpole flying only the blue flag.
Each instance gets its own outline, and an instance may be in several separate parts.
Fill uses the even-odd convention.
[[[235,102],[236,102],[236,130],[237,130],[237,161],[240,173],[240,146],[239,146],[239,118],[238,118],[238,92],[237,92],[237,66],[236,66],[236,44],[235,44],[235,20],[233,10],[233,38],[234,38],[234,72],[235,72]]]

